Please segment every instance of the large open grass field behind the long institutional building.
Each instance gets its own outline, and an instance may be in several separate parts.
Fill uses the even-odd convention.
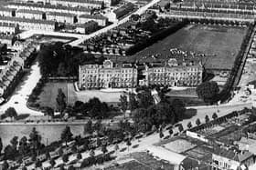
[[[203,62],[207,69],[230,69],[239,53],[246,28],[220,25],[187,25],[173,35],[151,45],[135,57],[159,54],[165,58],[171,48],[211,55]]]

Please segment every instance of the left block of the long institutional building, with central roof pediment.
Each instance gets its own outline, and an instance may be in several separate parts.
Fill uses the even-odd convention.
[[[79,87],[122,88],[137,85],[137,68],[133,64],[114,64],[105,60],[102,65],[80,65]]]

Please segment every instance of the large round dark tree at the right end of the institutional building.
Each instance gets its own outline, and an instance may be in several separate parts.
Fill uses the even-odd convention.
[[[204,82],[197,86],[197,95],[205,102],[213,103],[216,102],[217,95],[219,94],[219,86],[216,82]]]

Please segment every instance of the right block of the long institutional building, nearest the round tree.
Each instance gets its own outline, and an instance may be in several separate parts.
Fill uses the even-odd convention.
[[[203,67],[200,63],[178,64],[171,58],[166,64],[147,64],[140,85],[196,86],[202,83]]]

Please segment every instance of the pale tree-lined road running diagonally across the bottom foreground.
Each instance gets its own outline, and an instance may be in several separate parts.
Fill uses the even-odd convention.
[[[187,119],[187,120],[183,120],[183,121],[180,121],[179,123],[183,125],[184,129],[187,129],[187,123],[191,121],[192,125],[196,125],[196,120],[197,118],[200,119],[201,123],[204,123],[205,122],[205,116],[208,115],[210,119],[211,118],[211,115],[214,113],[214,112],[217,112],[217,110],[219,109],[219,113],[217,113],[217,115],[219,116],[222,116],[222,115],[227,115],[229,114],[230,112],[232,111],[237,111],[237,110],[241,110],[243,109],[245,106],[247,107],[251,107],[250,104],[239,104],[239,105],[220,105],[220,106],[215,106],[215,107],[212,107],[212,106],[201,106],[200,108],[197,108],[198,109],[198,114],[195,115],[194,117],[192,117],[191,119]],[[190,107],[190,109],[193,109],[194,107]],[[174,133],[173,134],[176,134],[178,132],[178,128],[175,127],[174,129]],[[164,135],[169,135],[168,131],[164,131]],[[119,148],[120,149],[123,149],[123,148],[126,148],[125,151],[123,152],[117,152],[115,153],[114,155],[117,156],[117,159],[120,159],[122,158],[123,156],[125,155],[128,155],[128,154],[131,154],[131,153],[135,153],[135,152],[143,152],[143,151],[146,151],[149,147],[151,147],[152,145],[160,142],[162,139],[159,138],[159,134],[153,134],[153,135],[148,135],[144,138],[141,138],[140,140],[133,140],[132,141],[132,145],[129,147],[129,152],[128,152],[128,149],[127,149],[127,145],[126,143],[121,143],[119,145]],[[138,145],[137,147],[133,148],[133,145]],[[114,151],[114,145],[110,145],[107,147],[108,151]],[[95,155],[100,155],[101,154],[101,148],[98,148],[95,150]],[[82,158],[86,158],[86,157],[89,157],[90,156],[90,153],[89,152],[84,152],[84,153],[81,153],[82,155]],[[77,154],[73,154],[73,155],[70,155],[69,156],[69,163],[73,160],[76,159],[76,156]],[[60,165],[63,163],[62,161],[62,157],[58,158],[56,160],[56,165]],[[47,167],[49,166],[49,162],[46,161],[43,163],[43,166],[44,167]],[[27,169],[33,169],[35,167],[35,165],[29,165],[27,167]],[[93,166],[93,168],[95,168],[95,166]]]

